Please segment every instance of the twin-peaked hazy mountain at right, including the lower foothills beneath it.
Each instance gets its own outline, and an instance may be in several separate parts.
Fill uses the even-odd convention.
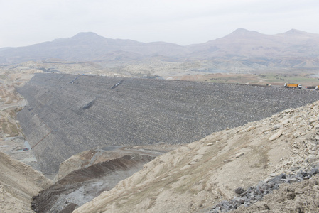
[[[188,48],[192,58],[212,60],[221,68],[269,70],[319,67],[319,35],[294,29],[276,35],[237,29],[223,38]]]

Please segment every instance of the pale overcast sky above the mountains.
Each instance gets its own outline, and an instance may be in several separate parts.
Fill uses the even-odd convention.
[[[205,43],[237,28],[319,34],[318,0],[0,0],[0,48],[94,32],[105,38]]]

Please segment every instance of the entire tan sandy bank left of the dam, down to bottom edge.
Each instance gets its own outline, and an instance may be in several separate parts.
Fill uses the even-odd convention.
[[[34,159],[32,151],[22,151],[25,140],[16,121],[16,111],[26,104],[16,87],[30,80],[34,72],[38,71],[0,70],[0,212],[33,212],[32,197],[51,183],[18,161],[31,163]]]

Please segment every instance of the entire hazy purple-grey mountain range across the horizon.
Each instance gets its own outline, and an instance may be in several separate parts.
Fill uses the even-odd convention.
[[[292,29],[265,35],[237,29],[225,37],[193,45],[141,43],[135,40],[104,38],[96,33],[78,33],[19,48],[0,48],[0,65],[26,61],[66,60],[72,62],[168,62],[207,61],[212,67],[268,68],[319,67],[319,34]]]

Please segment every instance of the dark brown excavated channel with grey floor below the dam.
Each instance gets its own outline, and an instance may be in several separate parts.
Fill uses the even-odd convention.
[[[31,207],[35,212],[72,212],[105,190],[111,190],[143,168],[155,157],[140,154],[124,155],[90,167],[75,170],[33,197]]]

